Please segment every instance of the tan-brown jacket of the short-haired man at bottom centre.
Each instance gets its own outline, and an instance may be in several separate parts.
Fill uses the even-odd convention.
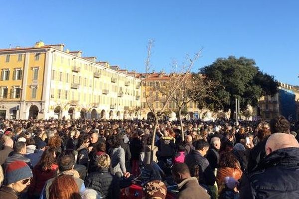
[[[196,178],[187,178],[177,185],[176,199],[210,199],[208,193],[199,184]]]

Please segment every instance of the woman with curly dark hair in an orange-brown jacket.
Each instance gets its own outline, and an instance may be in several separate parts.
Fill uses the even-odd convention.
[[[225,177],[232,177],[238,181],[241,178],[242,173],[240,163],[232,152],[220,154],[219,168],[216,176],[219,193],[221,193],[222,189],[225,187]]]

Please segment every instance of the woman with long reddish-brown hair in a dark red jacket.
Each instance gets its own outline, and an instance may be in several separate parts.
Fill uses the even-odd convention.
[[[43,152],[37,165],[32,169],[33,179],[28,190],[30,199],[39,199],[45,182],[55,176],[58,168],[55,158],[55,151],[47,149]]]

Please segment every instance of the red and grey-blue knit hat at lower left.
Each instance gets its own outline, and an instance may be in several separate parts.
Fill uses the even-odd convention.
[[[32,171],[25,162],[14,161],[6,167],[4,185],[10,185],[20,180],[32,177]]]

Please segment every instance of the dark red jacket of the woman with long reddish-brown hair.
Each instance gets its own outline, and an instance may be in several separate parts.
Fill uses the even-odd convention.
[[[43,186],[45,185],[46,181],[53,178],[56,175],[56,170],[58,165],[52,165],[51,170],[42,171],[40,167],[34,167],[32,169],[33,178],[28,188],[28,195],[30,198],[34,196],[40,196]]]

